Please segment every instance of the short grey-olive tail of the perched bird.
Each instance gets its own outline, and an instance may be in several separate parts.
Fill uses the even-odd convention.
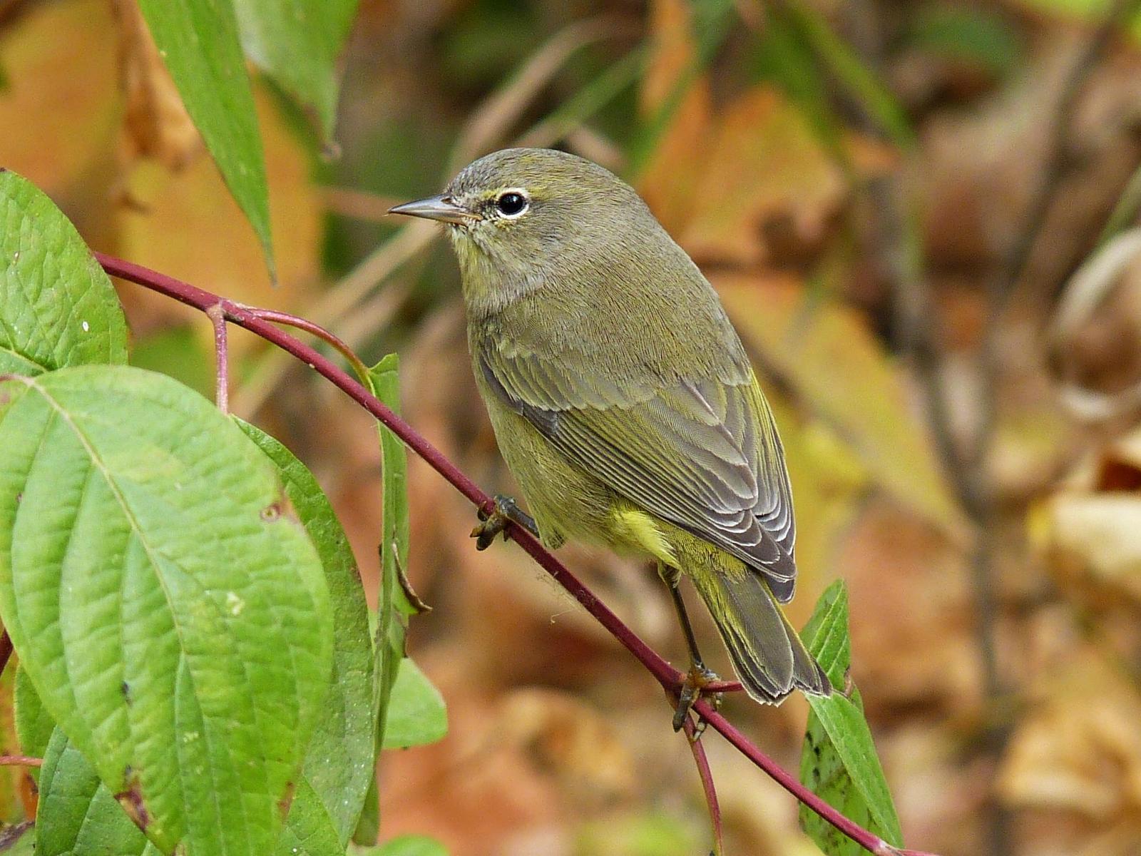
[[[733,668],[746,692],[767,704],[780,702],[793,689],[827,695],[832,685],[816,659],[755,572],[691,574],[709,607]]]

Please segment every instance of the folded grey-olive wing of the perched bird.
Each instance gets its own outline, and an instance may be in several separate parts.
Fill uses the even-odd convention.
[[[478,362],[494,393],[572,463],[760,571],[779,600],[792,597],[787,474],[747,368],[729,379],[618,385],[494,347]]]

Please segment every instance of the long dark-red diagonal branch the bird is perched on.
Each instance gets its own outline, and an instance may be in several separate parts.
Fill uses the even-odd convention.
[[[289,333],[280,330],[269,322],[269,312],[252,309],[241,304],[227,300],[189,283],[167,276],[157,270],[152,270],[141,265],[106,256],[102,252],[95,253],[96,259],[103,268],[112,276],[137,283],[144,288],[157,291],[161,294],[173,298],[179,302],[193,306],[196,309],[210,315],[219,310],[225,318],[237,324],[245,330],[261,337],[282,350],[292,354],[304,363],[310,365],[317,373],[332,381],[339,389],[347,394],[353,401],[372,413],[385,423],[397,437],[399,437],[413,452],[428,462],[428,465],[447,479],[453,487],[467,496],[475,506],[487,514],[495,510],[494,500],[484,493],[479,486],[464,475],[454,463],[431,443],[418,434],[407,422],[394,413],[383,402],[375,398],[358,381],[354,380],[347,372],[338,368],[330,360],[322,356],[314,348],[301,342]],[[280,317],[275,318],[281,321]],[[326,341],[331,333],[324,336]],[[335,337],[334,337],[335,338]],[[556,582],[558,582],[575,600],[583,605],[591,615],[605,627],[615,639],[622,643],[625,648],[633,654],[638,661],[646,667],[657,681],[669,693],[677,693],[682,672],[670,665],[657,652],[650,648],[642,639],[626,627],[622,620],[598,597],[594,596],[586,586],[582,583],[567,567],[547,551],[545,548],[525,528],[513,522],[508,523],[508,532],[511,539],[519,544]],[[2,652],[0,652],[2,653]],[[726,681],[719,684],[718,691],[739,689],[741,685]],[[892,847],[879,835],[865,830],[859,824],[844,817],[836,809],[812,793],[802,785],[792,774],[782,768],[754,745],[744,734],[742,734],[729,720],[705,701],[694,704],[694,710],[714,730],[719,732],[726,740],[735,745],[746,758],[760,767],[770,777],[788,791],[793,797],[808,806],[825,821],[835,826],[840,832],[858,843],[865,850],[877,856],[930,856],[916,850],[901,850]],[[703,774],[704,776],[704,774]]]

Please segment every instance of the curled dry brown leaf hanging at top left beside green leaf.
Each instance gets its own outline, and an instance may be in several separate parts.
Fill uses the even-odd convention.
[[[159,48],[135,0],[112,0],[119,29],[119,80],[127,99],[126,159],[154,158],[183,169],[202,150],[202,139],[183,106]]]

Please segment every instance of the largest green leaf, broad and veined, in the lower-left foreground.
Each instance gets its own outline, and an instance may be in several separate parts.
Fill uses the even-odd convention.
[[[332,668],[273,466],[176,381],[0,385],[0,615],[43,708],[160,849],[269,851]]]

